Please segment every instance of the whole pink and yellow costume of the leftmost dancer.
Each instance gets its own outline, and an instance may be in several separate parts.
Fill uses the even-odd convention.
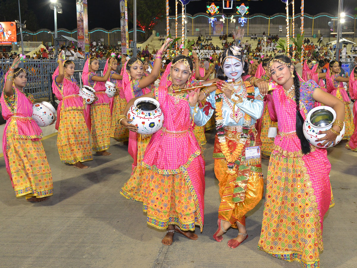
[[[6,81],[7,74],[4,81]],[[42,198],[53,195],[50,166],[41,143],[42,130],[31,118],[34,97],[12,86],[8,97],[2,91],[0,104],[6,121],[2,152],[16,197]]]

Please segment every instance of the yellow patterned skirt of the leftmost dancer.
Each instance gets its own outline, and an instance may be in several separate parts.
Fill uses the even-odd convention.
[[[6,130],[6,155],[16,197],[41,198],[53,195],[50,166],[40,140],[15,138],[16,121]]]

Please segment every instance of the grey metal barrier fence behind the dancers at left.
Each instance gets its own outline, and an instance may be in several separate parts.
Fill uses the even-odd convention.
[[[99,69],[104,69],[106,60],[99,60]],[[76,70],[83,70],[85,60],[75,59]],[[12,59],[0,59],[0,93],[4,88],[5,74],[12,65]],[[51,98],[52,74],[56,70],[57,60],[25,60],[20,64],[21,68],[27,70],[26,91],[34,95],[35,98]],[[81,72],[76,72],[74,78],[80,84]]]

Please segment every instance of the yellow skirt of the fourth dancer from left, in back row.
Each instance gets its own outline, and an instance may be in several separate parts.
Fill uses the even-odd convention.
[[[110,137],[118,140],[119,142],[129,140],[129,130],[118,123],[118,117],[123,114],[126,104],[126,100],[121,99],[119,95],[115,96],[113,99]]]

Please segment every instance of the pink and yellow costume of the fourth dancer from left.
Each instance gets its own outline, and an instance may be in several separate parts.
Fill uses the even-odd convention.
[[[104,70],[103,70],[104,74],[108,70],[108,61],[109,59],[107,59],[104,66]],[[123,73],[123,69],[121,70],[121,75],[122,73]],[[111,70],[108,81],[113,83],[120,90],[120,93],[119,95],[110,98],[110,112],[112,115],[110,137],[120,142],[124,142],[126,140],[129,140],[129,130],[127,130],[126,128],[124,128],[124,126],[118,123],[118,116],[123,114],[127,102],[124,95],[124,89],[122,87],[122,80],[112,78],[113,74],[117,74],[117,73],[116,71]]]

